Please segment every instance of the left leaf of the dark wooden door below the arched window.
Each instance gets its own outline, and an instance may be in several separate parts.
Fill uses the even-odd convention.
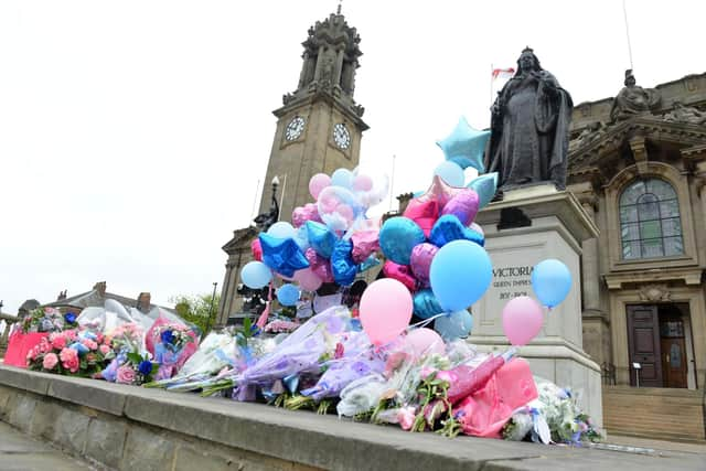
[[[640,386],[662,387],[660,319],[656,306],[628,306],[630,385],[635,386],[633,363],[640,363]]]

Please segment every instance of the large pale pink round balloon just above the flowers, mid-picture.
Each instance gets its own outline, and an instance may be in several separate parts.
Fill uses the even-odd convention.
[[[411,295],[392,278],[373,281],[360,303],[363,330],[374,345],[383,345],[399,335],[411,319]]]

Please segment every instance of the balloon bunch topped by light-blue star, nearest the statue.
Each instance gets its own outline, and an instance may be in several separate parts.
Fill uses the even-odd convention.
[[[451,136],[438,142],[446,160],[435,169],[429,189],[379,232],[385,276],[407,288],[414,314],[435,319],[436,331],[446,340],[469,334],[473,318],[468,308],[492,279],[484,234],[473,222],[495,194],[498,175],[483,174],[489,137],[461,118]],[[469,168],[473,178],[467,183]]]

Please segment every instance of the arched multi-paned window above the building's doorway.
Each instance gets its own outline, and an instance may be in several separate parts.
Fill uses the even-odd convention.
[[[684,254],[680,202],[664,180],[638,180],[620,195],[622,258]]]

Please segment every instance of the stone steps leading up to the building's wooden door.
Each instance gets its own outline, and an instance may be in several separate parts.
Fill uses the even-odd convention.
[[[605,386],[603,425],[609,435],[703,442],[703,400],[702,390]]]

